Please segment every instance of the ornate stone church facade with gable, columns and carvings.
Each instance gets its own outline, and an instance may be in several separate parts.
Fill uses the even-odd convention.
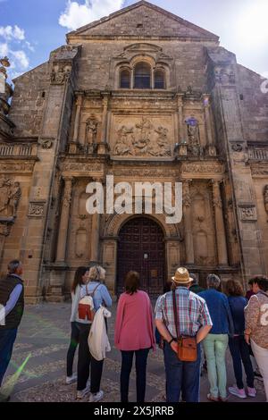
[[[61,301],[98,262],[161,293],[178,265],[268,274],[268,94],[214,34],[140,1],[67,35],[0,97],[0,271]],[[12,98],[10,105],[9,98]],[[182,182],[183,217],[88,214],[88,182]]]

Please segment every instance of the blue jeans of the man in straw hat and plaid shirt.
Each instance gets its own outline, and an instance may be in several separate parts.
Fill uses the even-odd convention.
[[[186,402],[199,402],[201,351],[197,346],[196,362],[181,362],[168,343],[165,343],[164,366],[166,374],[166,401],[179,402],[183,389]]]

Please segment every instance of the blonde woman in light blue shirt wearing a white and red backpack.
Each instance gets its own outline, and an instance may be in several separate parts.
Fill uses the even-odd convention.
[[[105,286],[105,269],[100,265],[94,265],[89,269],[89,282],[82,286],[80,298],[91,295],[94,302],[94,310],[103,305],[112,307],[112,298]],[[88,335],[90,332],[91,321],[86,324],[80,324],[80,348],[78,360],[78,399],[82,399],[89,391],[88,377],[90,369],[90,398],[89,402],[97,402],[103,399],[104,392],[100,390],[100,382],[103,374],[104,360],[96,360],[90,354],[88,348]]]

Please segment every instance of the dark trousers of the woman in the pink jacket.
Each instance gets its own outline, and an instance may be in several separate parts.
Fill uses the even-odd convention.
[[[137,402],[144,402],[147,386],[147,357],[150,349],[121,351],[121,402],[129,402],[130,372],[136,356]]]

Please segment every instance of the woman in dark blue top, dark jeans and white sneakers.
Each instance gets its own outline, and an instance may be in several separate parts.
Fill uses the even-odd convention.
[[[239,281],[229,280],[226,282],[226,293],[228,295],[230,313],[234,325],[234,335],[229,338],[229,349],[232,357],[234,374],[237,384],[229,388],[229,392],[240,399],[255,397],[254,371],[250,360],[249,346],[244,338],[245,315],[247,298]],[[242,363],[247,376],[247,394],[243,384]]]

